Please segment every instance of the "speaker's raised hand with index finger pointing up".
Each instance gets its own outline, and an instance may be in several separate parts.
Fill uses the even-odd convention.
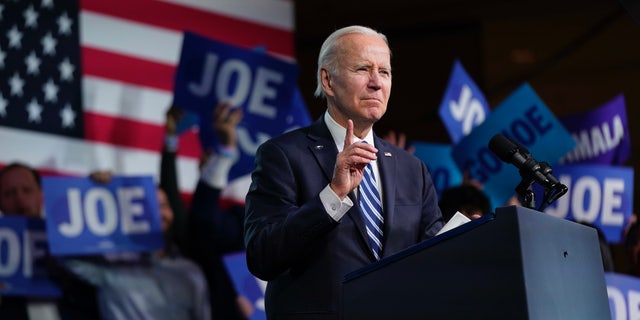
[[[369,162],[376,160],[376,149],[367,143],[353,143],[353,121],[349,120],[347,134],[344,137],[344,149],[338,153],[330,187],[344,199],[349,192],[358,187]]]

